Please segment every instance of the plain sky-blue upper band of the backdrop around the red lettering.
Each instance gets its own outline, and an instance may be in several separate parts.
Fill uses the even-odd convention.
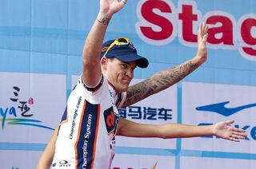
[[[178,3],[184,1],[170,2],[174,5],[175,9],[173,10],[177,10]],[[16,55],[6,57],[6,52],[1,55],[1,60],[4,63],[1,63],[0,69],[3,71],[21,70],[37,73],[52,71],[52,73],[80,74],[81,69],[74,65],[82,64],[80,62],[82,48],[86,35],[98,14],[98,3],[93,0],[2,1],[0,6],[0,49]],[[256,5],[255,1],[244,2],[242,0],[232,1],[232,3],[221,0],[195,3],[197,10],[201,11],[202,15],[214,10],[223,11],[232,15],[236,21],[244,14],[254,14],[255,9],[251,6]],[[242,5],[246,7],[241,7]],[[149,59],[149,68],[136,70],[135,77],[149,77],[158,70],[178,65],[194,57],[197,48],[182,45],[177,34],[172,35],[175,36],[174,40],[166,45],[150,45],[142,41],[135,29],[138,22],[137,7],[138,2],[127,3],[125,9],[114,15],[105,38],[107,40],[122,36],[130,37],[137,47],[138,53]],[[177,29],[180,28],[177,27]],[[10,50],[14,51],[10,52]],[[26,53],[26,57],[24,57],[26,51],[36,54]],[[38,57],[39,54],[40,57]],[[9,61],[14,57],[16,60],[17,58],[24,59],[22,66],[18,66],[18,64],[6,66],[6,62],[14,62]],[[28,61],[29,59],[33,60]],[[58,64],[62,65],[55,68],[52,65],[49,67],[40,65],[40,61],[47,63],[50,60],[53,61],[52,65],[55,61],[60,61]],[[66,66],[67,69],[64,70]],[[238,49],[211,49],[208,47],[208,60],[186,80],[254,85],[255,71],[256,61],[242,57]],[[220,74],[218,75],[218,73]]]

